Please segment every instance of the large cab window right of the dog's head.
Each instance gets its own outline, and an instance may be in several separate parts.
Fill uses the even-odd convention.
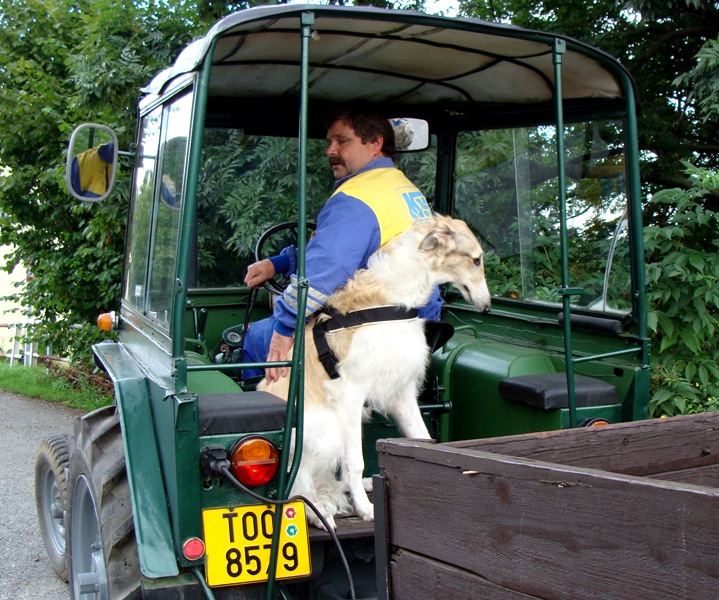
[[[621,127],[576,123],[565,131],[569,286],[576,306],[630,307]],[[487,252],[494,296],[559,303],[562,287],[556,129],[463,132],[457,138],[455,216]]]

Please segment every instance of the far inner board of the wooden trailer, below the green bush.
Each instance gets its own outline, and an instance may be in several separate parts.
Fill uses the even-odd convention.
[[[446,444],[625,475],[719,464],[719,413]]]

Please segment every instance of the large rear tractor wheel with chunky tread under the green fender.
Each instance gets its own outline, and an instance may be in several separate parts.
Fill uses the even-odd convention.
[[[68,480],[71,598],[141,598],[130,487],[114,406],[100,408],[77,421]]]

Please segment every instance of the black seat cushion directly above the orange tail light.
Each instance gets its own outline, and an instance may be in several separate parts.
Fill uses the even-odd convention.
[[[202,394],[197,408],[200,435],[211,435],[282,429],[287,403],[269,392],[238,392]]]

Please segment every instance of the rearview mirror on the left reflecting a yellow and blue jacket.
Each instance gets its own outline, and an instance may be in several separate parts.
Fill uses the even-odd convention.
[[[85,123],[72,133],[67,153],[65,185],[78,200],[107,198],[117,172],[117,136],[104,125]]]

